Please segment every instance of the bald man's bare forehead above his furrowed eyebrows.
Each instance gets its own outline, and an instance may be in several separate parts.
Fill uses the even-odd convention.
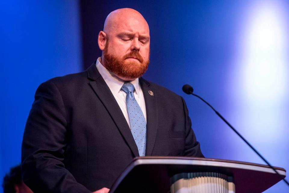
[[[112,26],[114,33],[139,33],[149,36],[148,23],[143,18],[118,17]]]

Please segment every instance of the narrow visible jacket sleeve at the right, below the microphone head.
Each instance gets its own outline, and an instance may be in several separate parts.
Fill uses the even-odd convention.
[[[185,113],[185,129],[186,129],[186,139],[185,139],[185,156],[193,157],[204,157],[200,149],[200,143],[197,142],[196,136],[193,129],[191,128],[192,123],[191,119],[188,116],[188,108],[185,103],[185,100],[182,98],[183,109]]]

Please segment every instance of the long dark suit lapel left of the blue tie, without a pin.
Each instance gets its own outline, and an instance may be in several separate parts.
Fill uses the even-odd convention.
[[[106,82],[98,72],[95,63],[92,64],[92,66],[90,66],[87,69],[87,74],[88,78],[90,79],[89,85],[92,87],[95,94],[104,104],[108,113],[110,114],[116,126],[118,127],[120,133],[123,135],[123,138],[126,140],[132,153],[134,154],[135,157],[139,156],[138,148],[135,144],[135,140],[132,137],[132,133],[126,122],[126,119],[123,116],[123,112],[121,111],[113,94],[110,92],[110,89],[107,86]]]

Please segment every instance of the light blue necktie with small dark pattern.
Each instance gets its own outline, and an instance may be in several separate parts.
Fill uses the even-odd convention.
[[[138,147],[138,153],[140,156],[145,156],[147,125],[141,107],[133,95],[135,87],[131,83],[126,82],[121,89],[126,92],[126,108],[129,114],[130,130]]]

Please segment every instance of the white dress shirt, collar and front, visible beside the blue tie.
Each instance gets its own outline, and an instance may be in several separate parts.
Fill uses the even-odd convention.
[[[123,112],[123,116],[126,118],[126,122],[129,125],[129,115],[127,113],[126,108],[126,92],[121,90],[121,87],[123,86],[122,79],[115,76],[112,72],[107,70],[102,64],[101,64],[101,57],[99,57],[96,61],[96,68],[98,72],[101,74],[102,78],[106,82],[107,86],[109,87],[111,93],[113,94],[115,100],[117,101],[118,105],[120,106],[121,111]],[[138,78],[135,80],[130,81],[130,83],[133,84],[135,87],[135,91],[133,92],[135,96],[135,100],[138,102],[138,105],[141,107],[141,111],[144,114],[144,119],[147,121],[147,113],[145,109],[145,102],[144,102],[144,95],[141,90],[141,87],[138,82]]]

